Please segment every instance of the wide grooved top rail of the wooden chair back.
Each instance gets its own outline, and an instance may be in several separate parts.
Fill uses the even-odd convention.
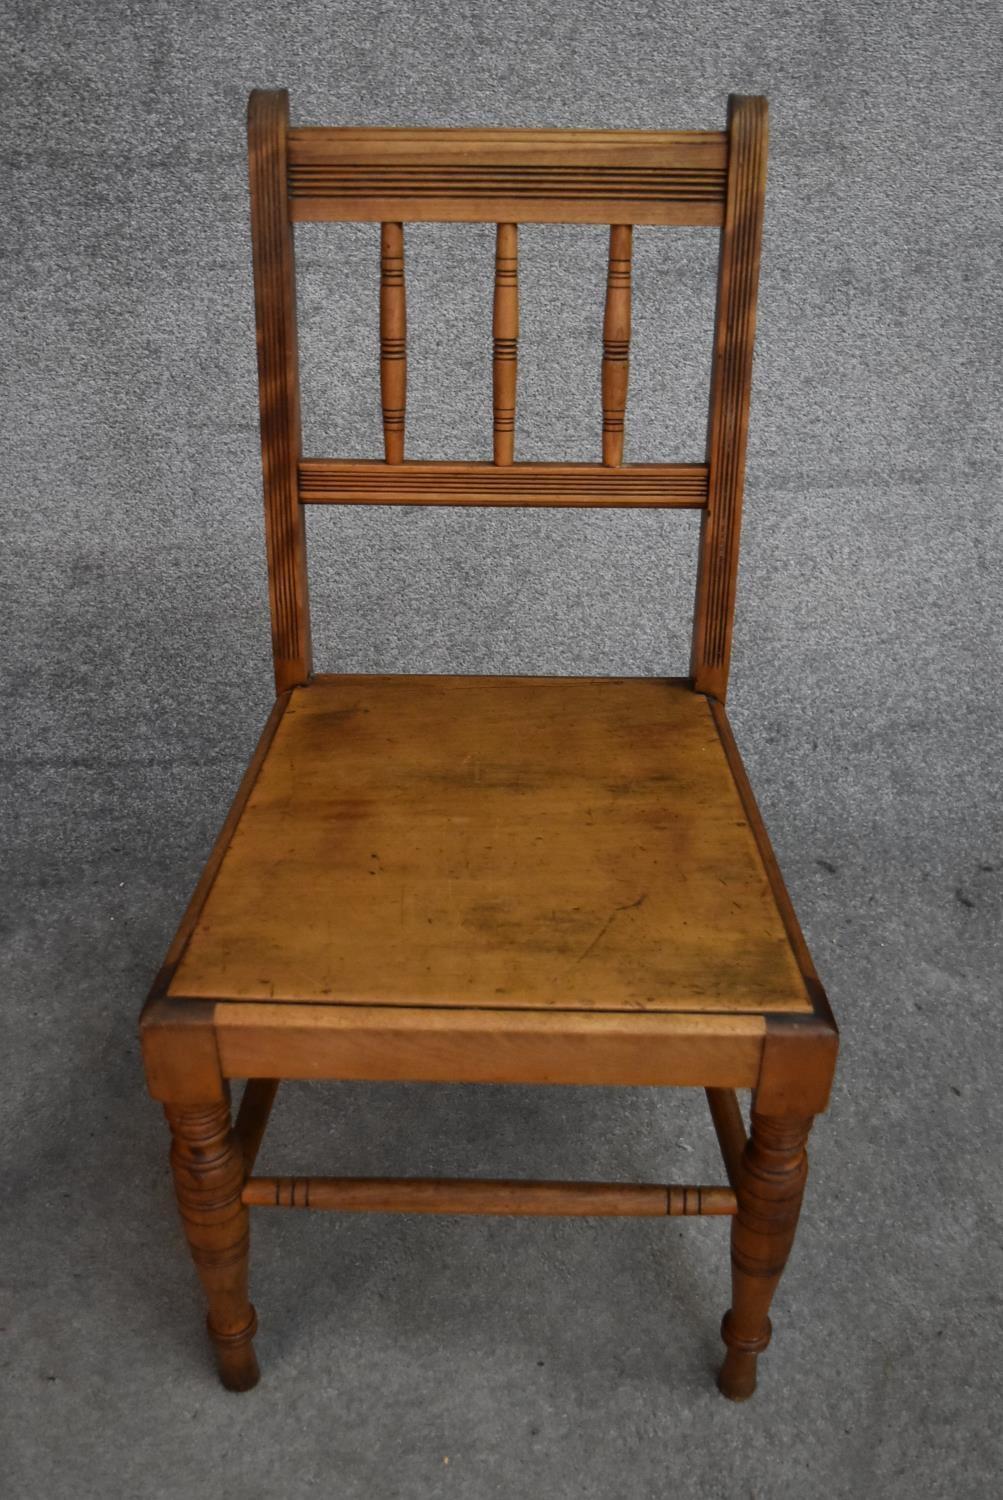
[[[292,219],[721,224],[720,132],[298,129]]]

